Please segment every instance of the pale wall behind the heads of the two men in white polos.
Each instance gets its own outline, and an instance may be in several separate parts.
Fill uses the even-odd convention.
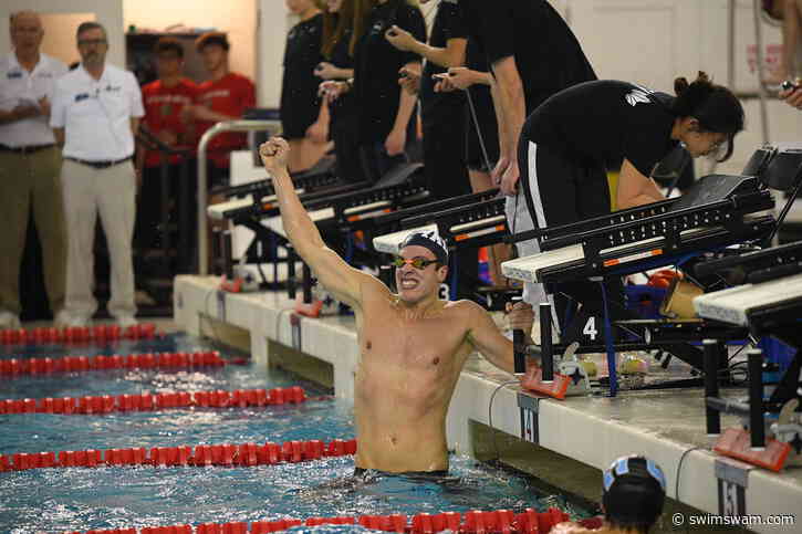
[[[106,28],[108,62],[117,66],[125,66],[122,0],[2,0],[0,2],[0,54],[7,54],[11,50],[9,15],[23,9],[32,9],[40,13],[94,13],[95,20]],[[45,27],[44,31],[60,33],[59,42],[71,42],[72,49],[75,50],[74,34],[72,36],[66,34],[74,32],[74,28]]]

